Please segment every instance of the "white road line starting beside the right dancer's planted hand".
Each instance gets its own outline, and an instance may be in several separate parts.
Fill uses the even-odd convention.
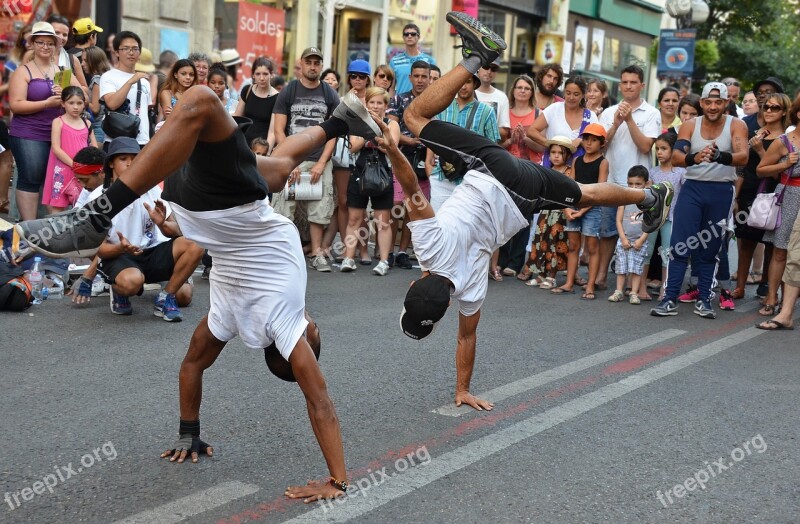
[[[601,351],[600,353],[595,353],[594,355],[589,355],[588,357],[575,360],[574,362],[569,362],[556,368],[548,369],[547,371],[531,375],[530,377],[511,382],[510,384],[506,384],[495,389],[490,389],[484,393],[479,393],[477,396],[484,398],[489,402],[500,402],[501,400],[513,397],[514,395],[519,395],[520,393],[524,393],[531,389],[555,382],[556,380],[560,380],[564,377],[572,375],[573,373],[589,369],[604,362],[608,362],[609,360],[624,357],[646,347],[659,344],[665,340],[684,334],[686,334],[686,331],[682,331],[680,329],[666,329],[658,333],[653,333],[650,336],[628,342],[621,346],[607,349],[605,351]],[[440,415],[447,415],[448,417],[460,417],[465,413],[474,412],[474,409],[464,405],[456,407],[453,402],[450,402],[449,404],[445,404],[444,406],[434,409],[433,412]]]

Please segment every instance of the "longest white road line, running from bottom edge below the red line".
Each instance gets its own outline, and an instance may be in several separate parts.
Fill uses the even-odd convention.
[[[346,497],[341,505],[334,502],[331,508],[318,507],[316,510],[299,515],[284,524],[347,522],[360,517],[427,484],[471,466],[479,460],[503,451],[514,444],[538,435],[563,422],[572,420],[656,380],[697,364],[762,334],[764,334],[764,331],[748,328],[716,340],[639,373],[625,377],[619,382],[608,384],[560,406],[533,415],[513,426],[473,440],[444,455],[433,457],[425,466],[420,465],[409,469],[384,484],[371,487],[369,491],[364,492],[363,497],[360,496],[361,493],[353,497]],[[328,511],[325,511],[325,509],[328,509]]]

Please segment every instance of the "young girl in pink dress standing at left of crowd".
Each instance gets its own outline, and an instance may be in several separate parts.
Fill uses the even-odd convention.
[[[49,213],[64,211],[75,203],[81,192],[72,172],[72,157],[87,145],[97,147],[90,126],[83,118],[86,95],[80,87],[69,86],[61,92],[61,107],[64,114],[52,124],[50,158],[42,191],[42,204]]]

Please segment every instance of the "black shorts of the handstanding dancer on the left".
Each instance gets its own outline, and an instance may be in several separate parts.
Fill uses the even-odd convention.
[[[189,211],[229,209],[269,192],[256,155],[239,129],[221,142],[198,142],[186,164],[164,181],[164,200]]]

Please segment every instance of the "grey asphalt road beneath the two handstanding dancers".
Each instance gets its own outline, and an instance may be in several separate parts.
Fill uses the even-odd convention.
[[[0,522],[800,520],[800,344],[754,329],[752,298],[661,319],[490,282],[472,389],[496,407],[478,413],[451,405],[455,312],[422,342],[399,331],[417,274],[309,272],[355,488],[328,506],[282,496],[327,469],[299,389],[238,340],[204,380],[214,458],[159,458],[208,282],[179,324],[154,292],[132,317],[106,297],[0,314]]]

